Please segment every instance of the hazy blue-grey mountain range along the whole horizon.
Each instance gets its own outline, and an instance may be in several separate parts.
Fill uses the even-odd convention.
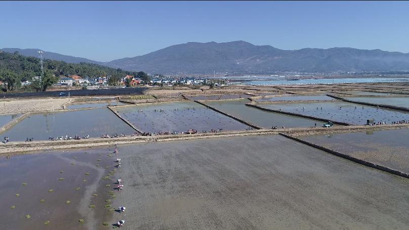
[[[38,57],[38,49],[4,48],[24,56]],[[69,63],[94,63],[130,71],[148,73],[268,73],[275,71],[408,71],[409,54],[353,48],[280,50],[271,45],[254,45],[246,41],[187,42],[152,53],[97,62],[86,58],[44,52],[44,58]]]

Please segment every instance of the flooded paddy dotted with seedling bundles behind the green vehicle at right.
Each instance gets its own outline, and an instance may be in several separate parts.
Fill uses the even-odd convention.
[[[356,125],[366,124],[367,119],[374,119],[375,122],[385,121],[387,124],[390,124],[392,121],[409,120],[409,113],[407,112],[371,106],[363,106],[362,108],[362,105],[347,102],[280,103],[261,104],[259,106]]]

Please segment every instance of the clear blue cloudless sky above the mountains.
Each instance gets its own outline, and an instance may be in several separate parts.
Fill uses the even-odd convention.
[[[0,48],[96,61],[244,40],[409,53],[409,2],[0,2]]]

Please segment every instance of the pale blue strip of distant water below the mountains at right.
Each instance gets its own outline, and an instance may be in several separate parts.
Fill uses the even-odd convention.
[[[374,82],[404,82],[409,78],[374,77],[374,78],[329,78],[300,80],[254,80],[234,82],[232,84],[275,85],[275,84],[337,84],[337,83],[374,83]]]

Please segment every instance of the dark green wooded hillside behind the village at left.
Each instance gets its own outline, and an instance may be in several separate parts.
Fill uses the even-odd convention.
[[[18,52],[12,54],[0,51],[0,81],[7,83],[7,86],[2,88],[4,91],[45,91],[58,82],[60,75],[78,75],[83,78],[110,76],[108,81],[110,85],[117,85],[126,75],[140,77],[144,82],[150,81],[150,77],[143,71],[130,72],[91,63],[72,64],[46,59],[43,62],[43,69],[44,77],[33,80],[33,77],[42,75],[39,58],[26,57]],[[32,81],[32,83],[22,87],[21,82],[24,81]]]

